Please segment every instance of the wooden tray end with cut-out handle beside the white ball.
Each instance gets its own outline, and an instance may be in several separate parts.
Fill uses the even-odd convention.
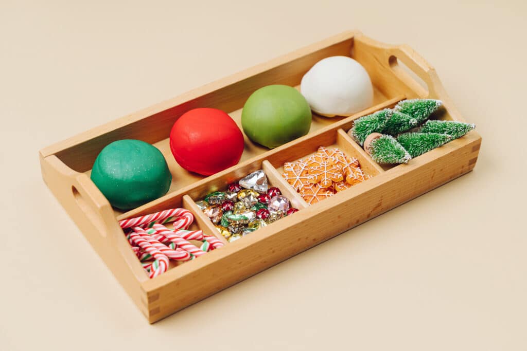
[[[391,74],[393,75],[392,79],[395,78],[403,82],[408,87],[407,96],[417,95],[420,98],[440,99],[452,119],[460,122],[464,121],[446,93],[434,67],[415,52],[414,49],[406,44],[388,45],[377,42],[363,34],[357,34],[354,37],[354,42],[355,45],[366,46],[369,58],[373,59],[375,65],[380,63],[382,70],[376,73],[382,76],[383,79],[388,80],[387,74]],[[357,49],[357,52],[359,52],[359,49]],[[399,65],[398,61],[404,63],[417,77],[421,78],[426,88],[419,84],[404,67]]]

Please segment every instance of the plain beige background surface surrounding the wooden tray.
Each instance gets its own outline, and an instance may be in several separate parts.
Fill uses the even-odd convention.
[[[525,350],[522,1],[0,0],[0,349]],[[483,136],[474,172],[148,325],[38,149],[346,29],[407,43]]]

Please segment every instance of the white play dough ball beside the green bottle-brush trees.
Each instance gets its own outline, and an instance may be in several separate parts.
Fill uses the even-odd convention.
[[[313,112],[349,116],[373,104],[373,87],[366,69],[351,57],[321,59],[302,77],[300,92]]]

